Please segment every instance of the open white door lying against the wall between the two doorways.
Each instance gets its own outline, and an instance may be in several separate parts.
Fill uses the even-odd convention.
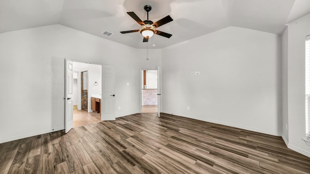
[[[115,67],[103,66],[102,120],[115,120]]]

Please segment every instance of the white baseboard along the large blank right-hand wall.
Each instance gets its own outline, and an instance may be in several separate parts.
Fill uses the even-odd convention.
[[[163,111],[162,113],[169,114],[169,112],[165,112],[165,111]],[[269,134],[269,135],[275,135],[275,136],[281,136],[282,135],[282,133],[280,133],[280,132],[273,132],[273,131],[266,131],[266,130],[261,130],[261,129],[257,129],[257,128],[250,128],[250,127],[246,127],[246,126],[235,125],[235,124],[231,124],[231,123],[227,123],[227,122],[222,122],[222,121],[216,121],[216,120],[212,120],[212,119],[204,119],[202,117],[186,116],[186,115],[182,115],[182,114],[178,114],[178,113],[174,113],[172,115],[182,116],[182,117],[192,118],[192,119],[197,119],[197,120],[206,121],[206,122],[210,122],[210,123],[221,124],[221,125],[225,125],[225,126],[231,126],[231,127],[234,127],[234,128],[244,129],[244,130],[248,130],[248,131],[255,131],[255,132],[265,133],[265,134]]]

